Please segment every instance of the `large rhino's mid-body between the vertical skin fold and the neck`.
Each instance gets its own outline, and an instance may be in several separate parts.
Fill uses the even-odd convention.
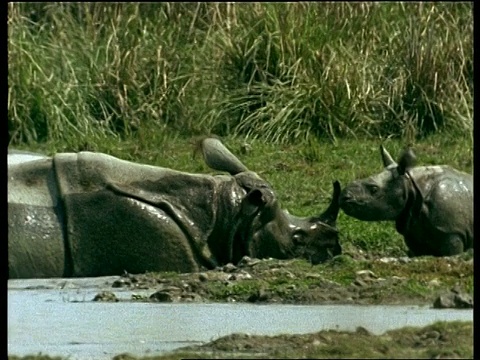
[[[89,152],[57,154],[54,164],[74,276],[214,266],[213,177]]]

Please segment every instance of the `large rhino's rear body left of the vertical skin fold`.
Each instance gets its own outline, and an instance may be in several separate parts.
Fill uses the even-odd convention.
[[[52,160],[9,164],[9,278],[68,275],[63,222]]]

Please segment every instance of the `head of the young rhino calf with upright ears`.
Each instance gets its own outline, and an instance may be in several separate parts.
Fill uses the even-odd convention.
[[[385,169],[376,175],[348,184],[340,196],[340,207],[349,216],[363,221],[395,220],[407,204],[412,191],[408,169],[415,155],[406,149],[396,163],[381,145]]]

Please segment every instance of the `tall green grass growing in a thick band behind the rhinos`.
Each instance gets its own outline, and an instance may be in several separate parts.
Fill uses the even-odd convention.
[[[11,145],[471,138],[471,3],[10,3]]]

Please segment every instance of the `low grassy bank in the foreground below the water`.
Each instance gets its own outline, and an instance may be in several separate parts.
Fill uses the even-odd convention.
[[[436,322],[425,327],[404,327],[372,335],[356,331],[324,330],[312,334],[258,336],[232,334],[201,346],[163,356],[122,353],[112,360],[177,359],[473,359],[472,322]],[[63,360],[47,355],[9,356],[9,360]]]

